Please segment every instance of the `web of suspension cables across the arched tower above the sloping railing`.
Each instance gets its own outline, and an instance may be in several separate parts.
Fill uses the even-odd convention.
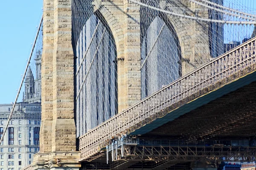
[[[253,0],[73,0],[77,137],[255,37]]]

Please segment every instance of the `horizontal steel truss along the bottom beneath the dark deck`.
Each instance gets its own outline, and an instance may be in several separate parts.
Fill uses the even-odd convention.
[[[256,147],[224,146],[217,144],[212,146],[198,145],[125,145],[114,149],[114,158],[109,161],[92,158],[84,162],[86,169],[125,169],[129,167],[143,166],[145,169],[163,169],[174,164],[196,161],[220,162],[220,161],[255,161]],[[117,155],[115,155],[117,153]],[[106,154],[112,154],[107,152]],[[106,157],[105,157],[106,158]],[[101,163],[100,163],[101,162]]]

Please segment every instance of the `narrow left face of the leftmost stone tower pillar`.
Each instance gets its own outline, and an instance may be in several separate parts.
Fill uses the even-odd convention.
[[[52,54],[54,47],[53,1],[44,0],[43,52],[41,62],[40,152],[52,151]]]

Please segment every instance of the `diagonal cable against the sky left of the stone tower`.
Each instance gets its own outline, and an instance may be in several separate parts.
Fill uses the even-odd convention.
[[[37,31],[37,34],[36,34],[36,36],[35,36],[35,41],[34,41],[34,43],[33,43],[32,50],[31,50],[31,52],[30,52],[29,59],[28,59],[27,65],[26,65],[26,69],[25,69],[25,72],[24,72],[24,74],[23,74],[22,80],[21,80],[21,82],[20,82],[20,87],[19,87],[19,90],[18,90],[18,92],[17,92],[17,96],[16,96],[16,98],[15,98],[15,102],[14,102],[14,104],[13,104],[13,106],[12,106],[12,111],[11,111],[11,113],[10,113],[10,115],[9,115],[8,120],[7,120],[6,127],[5,127],[4,130],[3,130],[3,135],[2,135],[2,137],[1,137],[1,139],[0,139],[0,143],[3,142],[4,134],[6,133],[7,127],[8,127],[8,125],[9,125],[9,122],[10,122],[11,118],[12,118],[12,113],[13,113],[13,111],[14,111],[14,109],[15,109],[15,105],[16,105],[16,103],[17,103],[17,99],[18,99],[18,96],[19,96],[19,94],[20,94],[20,91],[21,91],[21,88],[22,88],[22,84],[23,84],[24,79],[25,79],[25,77],[26,77],[26,72],[27,72],[27,70],[28,70],[28,68],[29,68],[29,63],[30,63],[30,60],[31,60],[31,58],[32,58],[33,51],[34,51],[34,49],[35,49],[35,44],[36,44],[36,41],[37,41],[37,38],[38,38],[38,35],[39,35],[39,32],[40,32],[40,28],[41,28],[42,23],[43,23],[43,16],[41,17],[41,21],[40,21],[40,24],[39,24],[39,26],[38,26],[38,31]]]

